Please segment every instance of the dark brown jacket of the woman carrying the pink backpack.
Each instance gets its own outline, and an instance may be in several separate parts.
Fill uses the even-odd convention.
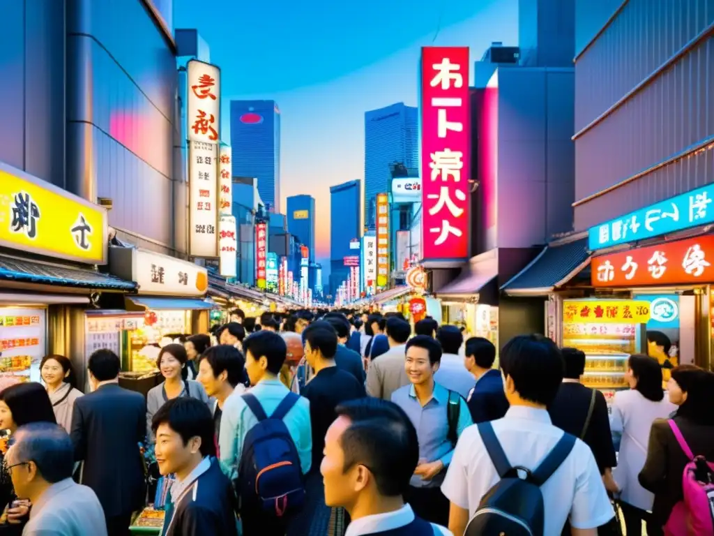
[[[714,460],[714,426],[698,425],[687,417],[674,417],[693,455]],[[640,471],[640,485],[655,494],[652,513],[664,525],[674,505],[683,499],[682,473],[690,460],[679,446],[668,420],[658,419],[650,430],[647,460]]]

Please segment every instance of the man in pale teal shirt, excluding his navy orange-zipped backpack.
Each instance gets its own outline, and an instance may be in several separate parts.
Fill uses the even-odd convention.
[[[250,392],[258,399],[266,415],[270,416],[288,394],[289,389],[278,379],[285,362],[287,347],[283,337],[274,332],[261,330],[243,341],[246,352],[246,372],[251,379]],[[311,466],[312,429],[310,425],[310,402],[301,397],[283,419],[295,443],[303,475]],[[221,435],[219,440],[221,462],[231,471],[231,479],[238,476],[243,441],[248,430],[258,424],[258,419],[248,408],[238,392],[223,402]]]

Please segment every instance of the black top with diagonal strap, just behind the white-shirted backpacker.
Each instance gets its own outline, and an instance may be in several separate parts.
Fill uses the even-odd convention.
[[[592,397],[593,389],[585,387],[579,382],[560,384],[558,394],[555,395],[555,399],[548,407],[553,425],[563,432],[580,437],[583,427],[585,427],[585,419],[588,417]],[[603,393],[598,390],[595,390],[593,415],[590,417],[590,425],[588,425],[583,441],[593,451],[601,475],[608,467],[612,468],[617,465],[612,432],[610,432],[608,403],[605,402]]]

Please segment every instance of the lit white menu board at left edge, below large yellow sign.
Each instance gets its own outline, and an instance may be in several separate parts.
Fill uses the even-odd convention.
[[[46,333],[44,309],[0,309],[0,374],[39,382]]]

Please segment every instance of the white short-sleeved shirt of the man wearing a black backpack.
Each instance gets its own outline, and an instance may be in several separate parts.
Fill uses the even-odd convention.
[[[511,406],[506,417],[491,422],[511,466],[534,470],[563,437],[563,430],[550,423],[545,410]],[[486,447],[476,425],[464,430],[446,473],[441,491],[471,517],[481,497],[498,482]],[[540,488],[545,507],[546,536],[560,535],[565,521],[578,529],[605,525],[613,518],[598,465],[590,447],[575,440],[573,450]]]

